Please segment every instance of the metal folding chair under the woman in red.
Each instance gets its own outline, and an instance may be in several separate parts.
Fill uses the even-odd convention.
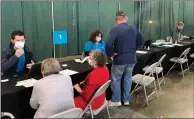
[[[84,109],[83,113],[82,113],[82,116],[84,115],[84,113],[86,113],[86,111],[90,111],[90,114],[91,114],[91,117],[92,119],[94,118],[94,115],[97,115],[98,113],[100,113],[105,107],[107,109],[107,112],[108,112],[108,116],[110,118],[110,113],[109,113],[109,109],[108,109],[108,101],[105,99],[104,100],[104,104],[99,108],[99,109],[96,109],[96,110],[93,110],[92,107],[91,107],[91,103],[92,101],[97,98],[98,96],[102,95],[106,89],[109,87],[111,83],[111,80],[107,81],[104,85],[102,85],[97,91],[96,93],[94,94],[94,96],[91,98],[91,100],[89,101],[88,105],[86,106],[86,108]]]

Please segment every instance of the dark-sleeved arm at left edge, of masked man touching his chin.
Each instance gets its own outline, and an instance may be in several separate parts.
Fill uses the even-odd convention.
[[[5,73],[18,61],[18,57],[14,54],[9,59],[7,58],[8,51],[1,52],[1,72]]]

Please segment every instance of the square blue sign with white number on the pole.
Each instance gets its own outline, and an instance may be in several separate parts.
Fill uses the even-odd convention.
[[[54,31],[54,44],[67,44],[67,31]]]

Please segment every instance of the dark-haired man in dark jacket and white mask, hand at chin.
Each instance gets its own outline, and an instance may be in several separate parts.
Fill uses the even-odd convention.
[[[13,31],[9,48],[1,52],[1,72],[3,74],[13,75],[32,67],[34,64],[33,54],[24,44],[24,32]]]

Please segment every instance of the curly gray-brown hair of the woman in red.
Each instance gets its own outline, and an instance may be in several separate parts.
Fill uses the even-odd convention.
[[[103,67],[107,62],[106,54],[100,50],[92,50],[90,52],[90,56],[94,58],[94,61],[96,62],[96,66],[98,67]]]

